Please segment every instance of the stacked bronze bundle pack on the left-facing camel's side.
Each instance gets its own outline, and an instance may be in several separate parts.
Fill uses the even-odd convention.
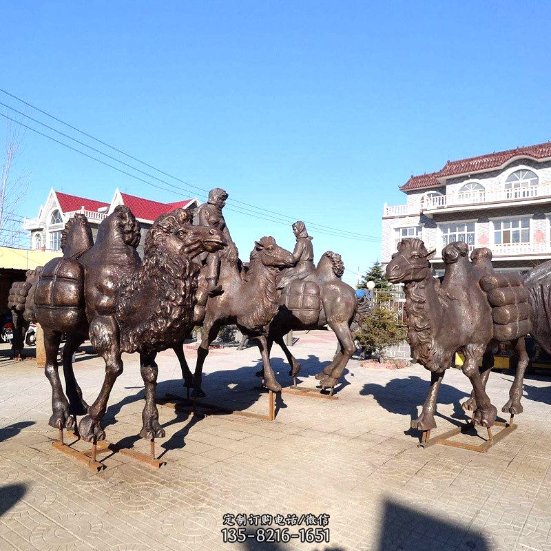
[[[521,278],[512,273],[484,275],[480,287],[492,306],[494,338],[507,341],[523,337],[532,331],[531,306],[528,291]]]

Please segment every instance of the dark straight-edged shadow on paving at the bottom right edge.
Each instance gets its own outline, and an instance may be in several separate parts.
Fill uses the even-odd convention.
[[[382,519],[377,546],[373,548],[377,551],[447,548],[448,542],[453,543],[457,550],[490,549],[488,539],[481,532],[417,511],[391,499],[383,503]],[[435,541],[441,542],[441,545],[434,545]]]

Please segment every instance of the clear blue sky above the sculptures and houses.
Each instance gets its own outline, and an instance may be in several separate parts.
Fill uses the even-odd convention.
[[[382,205],[405,202],[397,187],[410,174],[551,139],[546,3],[19,1],[0,18],[0,87],[187,183],[278,213],[284,224],[227,211],[242,258],[263,235],[293,247],[280,214],[380,238]],[[23,144],[25,216],[50,187],[107,201],[115,187],[189,196],[30,131]],[[316,258],[342,253],[348,282],[380,256],[376,240],[311,234]]]

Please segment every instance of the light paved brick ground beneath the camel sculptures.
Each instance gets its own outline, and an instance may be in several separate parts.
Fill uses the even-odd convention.
[[[304,385],[329,362],[331,333],[299,335],[293,352]],[[289,382],[282,353],[273,365]],[[194,351],[188,350],[193,362]],[[92,401],[103,380],[98,358],[77,356]],[[256,349],[211,351],[205,390],[212,402],[264,413],[251,390]],[[174,355],[159,356],[158,395],[180,392]],[[93,474],[52,448],[50,387],[32,360],[0,360],[0,550],[551,550],[551,382],[526,381],[519,429],[487,454],[417,448],[407,430],[428,373],[366,369],[353,360],[337,401],[283,395],[275,422],[231,415],[198,419],[160,408],[167,437],[155,471],[121,455]],[[489,393],[506,402],[510,375],[492,373]],[[466,419],[469,391],[450,370],[437,431]],[[137,357],[125,357],[106,417],[107,438],[147,448]],[[482,433],[481,433],[482,435]],[[464,438],[477,439],[476,435]],[[145,448],[144,448],[145,446]],[[330,515],[327,544],[223,544],[225,513]],[[248,528],[249,531],[254,528]],[[296,531],[295,528],[292,529]]]

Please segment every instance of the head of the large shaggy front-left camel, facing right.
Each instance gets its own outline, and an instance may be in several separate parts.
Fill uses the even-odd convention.
[[[159,216],[145,238],[145,257],[185,256],[191,260],[200,253],[220,251],[227,245],[220,230],[194,226],[191,224],[192,217],[186,209],[176,209]]]

